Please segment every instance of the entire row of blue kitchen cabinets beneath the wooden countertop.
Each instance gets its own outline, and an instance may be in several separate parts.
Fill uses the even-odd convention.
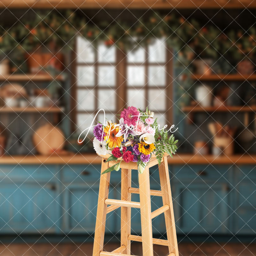
[[[170,165],[178,234],[255,235],[255,165]],[[121,172],[110,175],[109,198],[121,198]],[[0,165],[1,234],[94,232],[100,164]],[[138,187],[132,171],[132,187]],[[156,167],[150,187],[160,189]],[[132,194],[132,201],[140,201]],[[152,211],[163,205],[151,197]],[[140,209],[132,208],[132,234],[141,233]],[[152,220],[155,237],[165,234],[164,214]],[[120,233],[120,208],[109,213],[106,233]]]

